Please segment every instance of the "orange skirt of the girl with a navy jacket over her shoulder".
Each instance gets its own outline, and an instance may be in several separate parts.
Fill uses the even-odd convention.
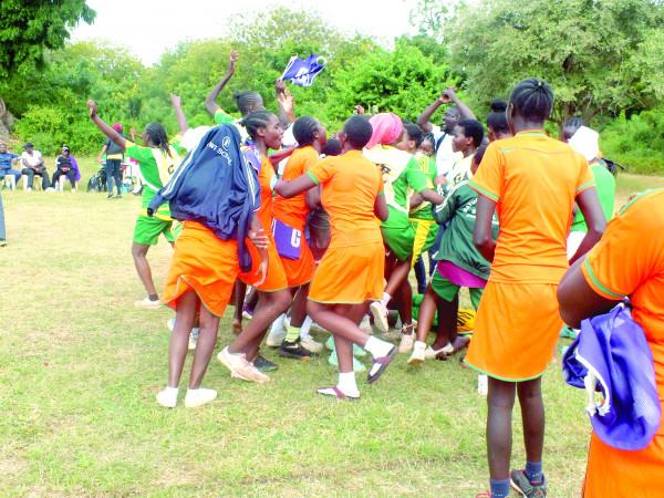
[[[185,221],[162,294],[162,302],[177,310],[177,300],[194,290],[210,313],[221,317],[240,272],[238,245],[221,240],[196,221]]]

